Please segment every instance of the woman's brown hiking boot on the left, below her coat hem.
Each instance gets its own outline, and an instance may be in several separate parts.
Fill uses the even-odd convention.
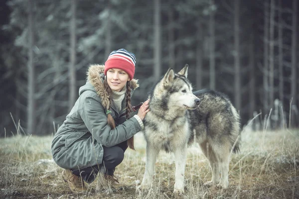
[[[71,170],[65,169],[62,171],[61,175],[64,182],[69,185],[73,193],[77,194],[87,191],[83,180],[80,177],[74,175]]]

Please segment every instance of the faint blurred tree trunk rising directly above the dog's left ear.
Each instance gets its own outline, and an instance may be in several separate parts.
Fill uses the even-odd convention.
[[[174,32],[173,32],[173,10],[172,6],[168,9],[168,18],[169,18],[169,25],[168,25],[168,49],[169,49],[169,68],[173,68],[175,71],[175,47],[174,47]]]

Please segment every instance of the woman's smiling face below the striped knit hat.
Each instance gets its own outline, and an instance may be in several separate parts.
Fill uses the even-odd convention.
[[[121,69],[109,69],[106,74],[107,83],[112,91],[120,92],[130,81],[129,75]]]

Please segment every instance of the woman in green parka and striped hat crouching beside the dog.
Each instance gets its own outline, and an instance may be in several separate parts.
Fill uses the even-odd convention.
[[[115,167],[128,145],[134,149],[133,136],[144,128],[149,112],[146,101],[129,118],[131,95],[139,87],[133,79],[135,63],[133,53],[119,49],[110,53],[105,66],[91,65],[87,83],[53,138],[53,159],[64,168],[62,178],[74,193],[86,191],[84,181],[92,183],[99,172],[99,182],[121,186]]]

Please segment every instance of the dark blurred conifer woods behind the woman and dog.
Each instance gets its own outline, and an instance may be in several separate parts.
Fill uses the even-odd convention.
[[[120,48],[137,57],[133,105],[169,67],[189,64],[194,90],[227,94],[243,125],[261,113],[254,129],[298,126],[298,0],[7,0],[2,9],[1,136],[18,122],[20,133],[53,133],[88,66]]]

